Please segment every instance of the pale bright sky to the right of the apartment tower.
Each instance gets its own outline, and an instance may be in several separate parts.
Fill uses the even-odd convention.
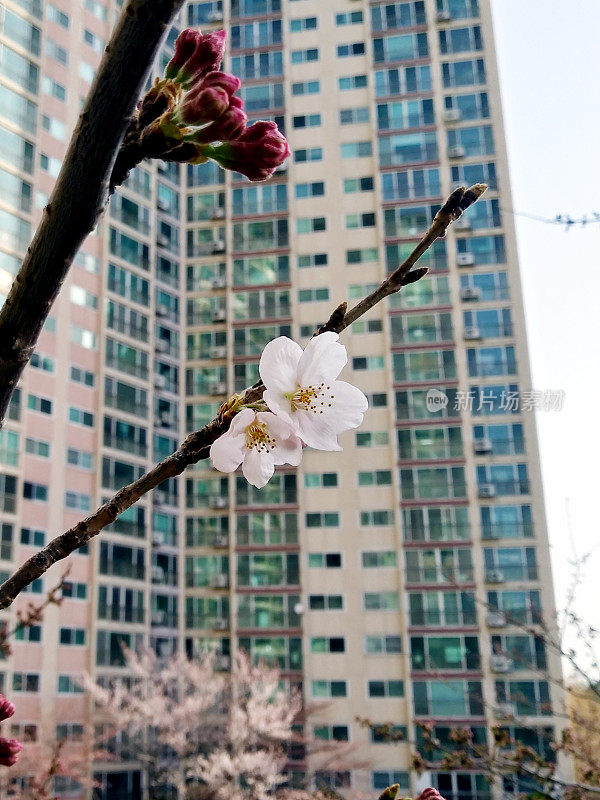
[[[491,4],[512,208],[589,219],[600,213],[600,0]],[[562,411],[537,413],[557,606],[574,557],[589,553],[574,610],[600,629],[600,223],[515,221],[533,386],[565,391]]]

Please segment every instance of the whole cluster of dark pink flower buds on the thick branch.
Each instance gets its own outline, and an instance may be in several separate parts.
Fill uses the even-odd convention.
[[[251,181],[269,178],[290,155],[274,122],[247,127],[240,80],[221,72],[225,31],[184,30],[175,42],[163,80],[138,108],[143,139],[157,157],[201,164],[208,159]]]

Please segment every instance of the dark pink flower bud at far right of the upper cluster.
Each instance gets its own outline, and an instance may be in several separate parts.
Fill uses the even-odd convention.
[[[207,148],[202,154],[251,181],[264,181],[290,155],[290,147],[275,122],[260,121],[237,139]]]

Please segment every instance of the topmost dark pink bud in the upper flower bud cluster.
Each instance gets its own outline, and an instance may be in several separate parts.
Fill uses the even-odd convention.
[[[165,78],[191,86],[209,72],[218,70],[225,54],[225,31],[201,33],[187,28],[175,41],[173,58],[165,69]]]

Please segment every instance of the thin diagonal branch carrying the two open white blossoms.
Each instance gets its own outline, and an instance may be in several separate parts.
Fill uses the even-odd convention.
[[[338,333],[343,331],[384,297],[394,294],[403,286],[414,283],[426,275],[428,272],[426,267],[411,271],[417,259],[437,238],[445,235],[449,225],[460,217],[465,208],[478,200],[486,188],[485,184],[476,184],[470,189],[459,188],[452,192],[436,214],[425,236],[395,272],[350,311],[346,310],[346,303],[338,306],[328,322],[321,326],[316,334],[324,331]],[[235,414],[233,404],[235,403],[237,408],[240,405],[256,403],[262,398],[263,391],[264,385],[258,381],[254,386],[246,389],[241,397],[235,397],[233,401],[224,403],[215,419],[201,430],[191,433],[172,455],[157,464],[150,472],[142,475],[137,481],[124,486],[94,514],[57,536],[46,547],[28,559],[0,586],[0,609],[10,606],[17,595],[32,581],[43,575],[53,564],[66,558],[100,533],[103,528],[114,522],[119,514],[136,503],[147,492],[155,489],[168,478],[181,475],[186,467],[207,458],[211,444],[225,433],[231,424],[232,416]]]

